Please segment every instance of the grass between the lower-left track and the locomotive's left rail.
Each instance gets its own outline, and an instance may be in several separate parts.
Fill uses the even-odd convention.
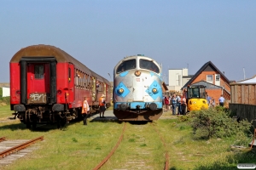
[[[42,127],[30,131],[20,123],[2,125],[1,133],[7,139],[33,139],[44,135],[38,150],[3,169],[92,169],[116,144],[122,127],[118,122],[89,122],[88,126],[74,122],[63,130]]]

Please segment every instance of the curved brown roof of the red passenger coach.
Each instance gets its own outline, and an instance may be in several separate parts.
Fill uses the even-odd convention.
[[[70,54],[67,54],[65,51],[61,50],[61,48],[56,48],[55,46],[39,44],[39,45],[28,46],[26,48],[21,48],[20,51],[18,51],[10,60],[10,63],[19,63],[22,57],[26,57],[26,58],[55,57],[58,63],[69,62],[79,67],[79,69],[83,69],[83,70],[85,69],[87,71],[90,71],[89,68],[87,68],[85,65],[80,63],[77,59],[74,59]]]

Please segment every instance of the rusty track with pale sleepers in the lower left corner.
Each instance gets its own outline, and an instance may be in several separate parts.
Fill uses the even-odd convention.
[[[6,140],[5,137],[0,138],[0,141],[2,141],[0,143],[0,167],[8,165],[34,150],[35,148],[29,146],[39,140],[44,140],[44,136],[31,140]]]

